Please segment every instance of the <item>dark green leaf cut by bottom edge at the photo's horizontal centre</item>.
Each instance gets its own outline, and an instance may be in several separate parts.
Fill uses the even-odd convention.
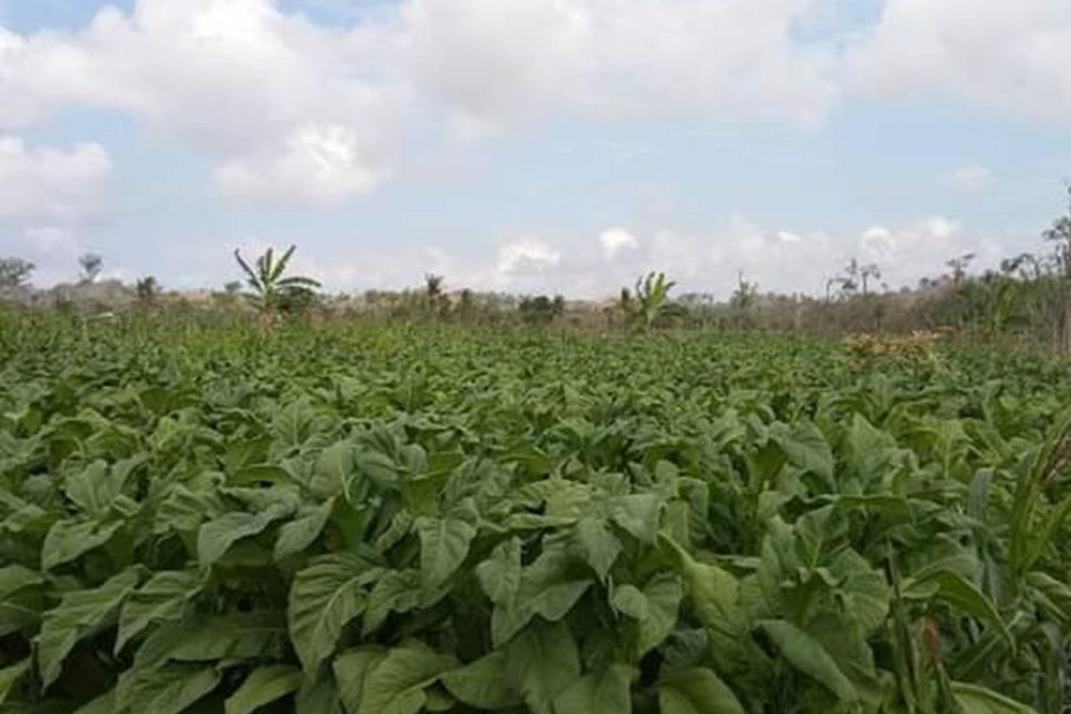
[[[569,627],[534,622],[506,650],[506,672],[534,714],[553,714],[555,698],[580,675],[580,660]]]

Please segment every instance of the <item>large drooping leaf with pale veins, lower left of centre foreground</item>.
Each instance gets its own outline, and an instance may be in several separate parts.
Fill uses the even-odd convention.
[[[364,586],[380,571],[349,553],[325,556],[300,571],[290,586],[290,639],[301,666],[313,673],[338,643],[343,627],[364,611]]]

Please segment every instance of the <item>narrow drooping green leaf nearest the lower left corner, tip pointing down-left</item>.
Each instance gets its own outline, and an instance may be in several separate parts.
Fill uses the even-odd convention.
[[[78,640],[116,623],[120,606],[139,579],[137,569],[123,571],[100,588],[66,593],[58,607],[45,613],[34,640],[43,687],[59,678],[63,660]]]

